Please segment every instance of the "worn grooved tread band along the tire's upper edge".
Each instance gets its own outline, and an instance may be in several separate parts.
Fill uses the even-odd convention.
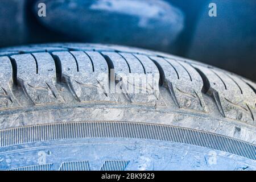
[[[3,49],[1,55],[5,55],[0,57],[0,69],[4,73],[0,82],[1,110],[20,106],[11,92],[15,84],[22,87],[33,105],[75,101],[123,103],[121,96],[111,93],[117,81],[123,98],[131,104],[164,105],[159,86],[155,84],[159,82],[160,86],[168,88],[180,109],[208,113],[203,98],[205,92],[214,98],[224,117],[255,125],[254,82],[195,61],[177,60],[164,53],[142,49],[97,44],[14,47]],[[137,78],[132,79],[135,76]],[[142,77],[149,76],[154,76],[152,85],[141,85]],[[67,84],[68,89],[56,85],[58,82]],[[129,84],[135,88],[142,86],[147,94],[141,94],[141,90],[138,94],[129,93],[126,88]],[[70,94],[72,97],[68,96]]]

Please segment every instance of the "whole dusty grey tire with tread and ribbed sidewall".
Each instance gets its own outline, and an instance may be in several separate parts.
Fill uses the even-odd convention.
[[[246,78],[101,44],[5,48],[0,63],[1,170],[256,169]]]

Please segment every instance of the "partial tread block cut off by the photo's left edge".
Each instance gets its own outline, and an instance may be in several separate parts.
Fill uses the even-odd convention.
[[[13,68],[8,57],[0,57],[0,110],[18,107],[9,84],[13,78]]]

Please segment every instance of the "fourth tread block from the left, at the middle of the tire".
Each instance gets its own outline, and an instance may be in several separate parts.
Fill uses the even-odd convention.
[[[150,63],[151,60],[143,59],[144,63],[149,63],[146,72],[141,60],[131,53],[102,52],[102,54],[108,56],[113,63],[114,78],[117,83],[115,93],[123,94],[134,104],[164,105],[159,92],[159,73],[156,72],[157,68],[152,66],[154,63]]]

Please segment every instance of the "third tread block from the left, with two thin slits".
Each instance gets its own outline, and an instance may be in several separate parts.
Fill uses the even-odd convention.
[[[52,52],[61,66],[61,78],[67,82],[80,102],[108,101],[115,98],[108,92],[108,64],[98,52]]]

